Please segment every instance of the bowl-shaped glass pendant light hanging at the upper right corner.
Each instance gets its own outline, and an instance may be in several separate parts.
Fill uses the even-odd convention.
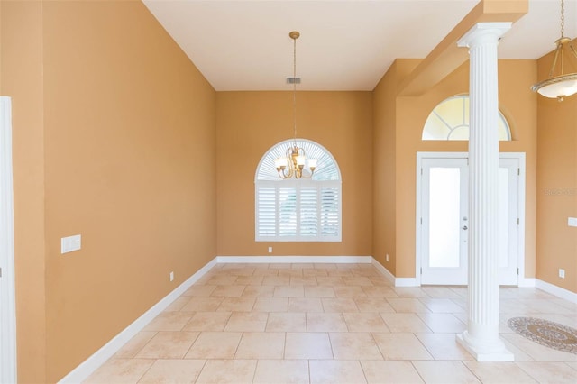
[[[570,38],[563,36],[565,27],[565,10],[564,1],[561,0],[561,37],[555,41],[555,54],[553,59],[553,64],[549,70],[549,78],[536,83],[531,89],[538,92],[540,95],[550,98],[556,98],[560,102],[564,100],[567,96],[572,96],[577,93],[577,72],[568,73],[563,75],[563,51],[564,46],[568,45],[569,49],[572,51],[575,58],[577,58],[577,50],[572,47],[572,45],[567,44],[571,41]],[[554,76],[555,68],[557,67],[557,61],[560,61],[561,74],[559,76]]]

